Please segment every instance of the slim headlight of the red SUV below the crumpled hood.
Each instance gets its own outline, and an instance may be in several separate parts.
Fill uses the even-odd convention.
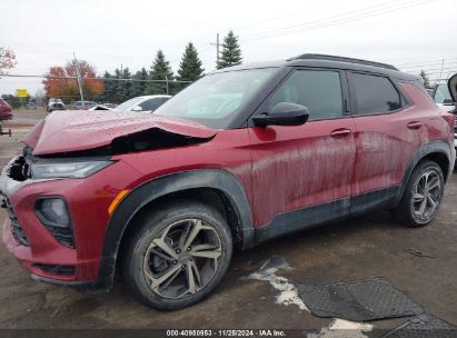
[[[96,173],[111,161],[36,162],[31,166],[32,178],[85,178]]]

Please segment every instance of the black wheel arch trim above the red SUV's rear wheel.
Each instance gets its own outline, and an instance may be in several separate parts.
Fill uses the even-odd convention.
[[[403,180],[401,180],[401,188],[400,193],[397,196],[396,205],[398,205],[401,200],[401,197],[405,192],[406,186],[408,185],[408,180],[413,173],[413,170],[417,167],[417,165],[427,156],[431,153],[441,153],[445,155],[449,161],[449,168],[447,171],[447,177],[445,177],[445,181],[448,180],[450,175],[453,175],[455,155],[453,153],[453,147],[445,141],[430,141],[428,143],[423,145],[410,158],[408,166],[406,167]]]

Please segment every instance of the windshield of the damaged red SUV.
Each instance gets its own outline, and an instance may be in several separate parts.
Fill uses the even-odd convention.
[[[195,120],[209,128],[227,128],[237,110],[272,74],[275,68],[206,76],[156,110],[155,115]]]

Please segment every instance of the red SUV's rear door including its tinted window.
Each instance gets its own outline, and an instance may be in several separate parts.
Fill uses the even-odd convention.
[[[386,76],[349,72],[357,143],[352,208],[395,193],[424,132],[421,116]],[[387,190],[386,190],[387,189]],[[372,200],[370,200],[370,198]],[[360,202],[360,203],[358,203]]]

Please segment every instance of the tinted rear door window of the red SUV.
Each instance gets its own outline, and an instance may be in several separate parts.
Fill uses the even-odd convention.
[[[401,108],[400,95],[389,79],[377,76],[352,73],[355,113],[379,113]]]

